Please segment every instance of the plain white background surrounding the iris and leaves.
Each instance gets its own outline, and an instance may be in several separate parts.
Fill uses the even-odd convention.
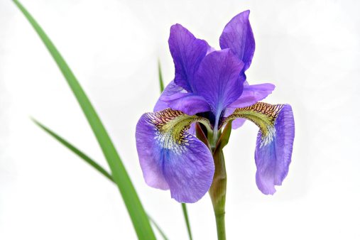
[[[146,211],[170,239],[187,239],[180,204],[143,181],[135,126],[159,96],[157,61],[173,80],[170,26],[219,50],[237,13],[251,10],[250,84],[291,104],[293,162],[262,195],[257,127],[233,131],[227,163],[228,239],[360,239],[359,1],[23,1],[58,47],[101,117]],[[0,0],[0,239],[136,239],[117,188],[33,124],[60,133],[104,168],[86,119],[26,18]],[[188,204],[194,239],[216,239],[208,195]],[[160,238],[159,238],[160,239]]]

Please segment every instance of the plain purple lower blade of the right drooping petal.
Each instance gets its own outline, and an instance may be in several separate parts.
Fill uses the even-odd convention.
[[[281,185],[288,175],[295,137],[293,110],[290,105],[285,104],[280,110],[273,128],[275,131],[272,138],[264,138],[259,131],[256,141],[256,185],[266,195],[273,195],[276,192],[274,186]]]

